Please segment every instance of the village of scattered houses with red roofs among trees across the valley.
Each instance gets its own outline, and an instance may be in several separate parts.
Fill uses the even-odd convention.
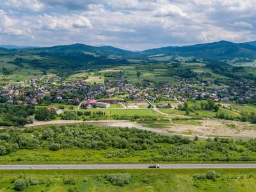
[[[150,107],[145,99],[156,103],[157,108],[172,108],[171,103],[188,100],[212,99],[215,102],[250,103],[255,99],[256,86],[250,82],[211,82],[181,79],[173,85],[168,82],[143,84],[127,83],[122,77],[103,83],[88,83],[86,77],[72,80],[54,76],[35,77],[24,82],[2,84],[0,102],[56,108],[142,108]],[[119,104],[119,105],[115,105]],[[144,104],[144,105],[143,105]],[[174,105],[175,106],[175,105]]]

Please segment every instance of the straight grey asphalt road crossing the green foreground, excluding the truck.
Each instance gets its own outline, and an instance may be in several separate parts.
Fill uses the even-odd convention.
[[[1,164],[0,170],[148,169],[149,164]],[[256,164],[160,164],[162,169],[256,168]]]

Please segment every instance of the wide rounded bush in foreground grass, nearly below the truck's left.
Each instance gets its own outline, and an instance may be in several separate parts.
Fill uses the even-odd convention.
[[[116,186],[124,186],[125,184],[129,184],[131,179],[131,174],[129,173],[116,173],[116,174],[107,174],[105,175],[105,179],[111,182]]]

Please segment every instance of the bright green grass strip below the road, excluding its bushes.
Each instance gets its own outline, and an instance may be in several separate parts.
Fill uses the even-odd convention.
[[[216,180],[193,179],[193,174],[209,170],[1,170],[0,191],[14,191],[17,179],[35,179],[24,191],[255,191],[255,169],[215,170]],[[118,186],[106,174],[126,173],[128,184]],[[71,178],[73,184],[64,184]]]

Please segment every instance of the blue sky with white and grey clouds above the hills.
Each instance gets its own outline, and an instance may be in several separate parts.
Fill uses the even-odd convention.
[[[256,40],[256,0],[0,0],[0,44],[141,50]]]

